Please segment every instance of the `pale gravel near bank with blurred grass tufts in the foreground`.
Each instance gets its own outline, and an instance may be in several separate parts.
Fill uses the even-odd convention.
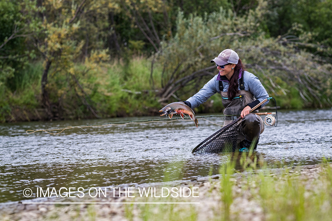
[[[141,184],[132,188],[195,189],[199,197],[42,198],[51,204],[3,203],[1,220],[329,220],[332,213],[332,164],[249,170],[232,174],[231,167],[188,181]],[[129,187],[129,186],[128,186]],[[122,186],[122,188],[125,188]],[[134,189],[132,189],[134,190]],[[155,193],[160,195],[160,191]],[[195,193],[196,194],[196,193]],[[23,202],[36,202],[35,200]],[[53,204],[53,203],[65,204]],[[69,204],[88,202],[101,204]],[[141,204],[132,204],[141,203]],[[168,204],[142,204],[167,202]],[[190,202],[199,204],[169,204]],[[114,203],[114,204],[112,204]],[[129,204],[121,204],[129,203]]]

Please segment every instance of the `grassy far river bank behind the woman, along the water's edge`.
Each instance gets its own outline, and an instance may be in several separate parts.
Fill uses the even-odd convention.
[[[0,123],[155,116],[166,104],[188,99],[211,79],[210,75],[205,76],[188,91],[174,92],[168,100],[160,101],[165,90],[163,67],[155,64],[151,72],[150,58],[133,56],[130,63],[119,59],[96,65],[93,69],[85,63],[73,65],[75,75],[67,80],[64,80],[64,74],[57,72],[49,79],[52,82],[47,85],[49,105],[43,103],[43,66],[40,61],[27,67],[22,74],[24,78],[12,79],[16,87],[0,84]],[[252,69],[248,71],[253,72]],[[266,88],[271,87],[269,78],[259,73],[257,76]],[[319,101],[321,105],[305,101],[293,84],[281,79],[277,82],[281,89],[267,91],[276,98],[281,109],[330,108],[332,105],[328,97]],[[268,107],[274,109],[274,101]],[[221,96],[213,95],[194,111],[196,114],[222,112]]]

